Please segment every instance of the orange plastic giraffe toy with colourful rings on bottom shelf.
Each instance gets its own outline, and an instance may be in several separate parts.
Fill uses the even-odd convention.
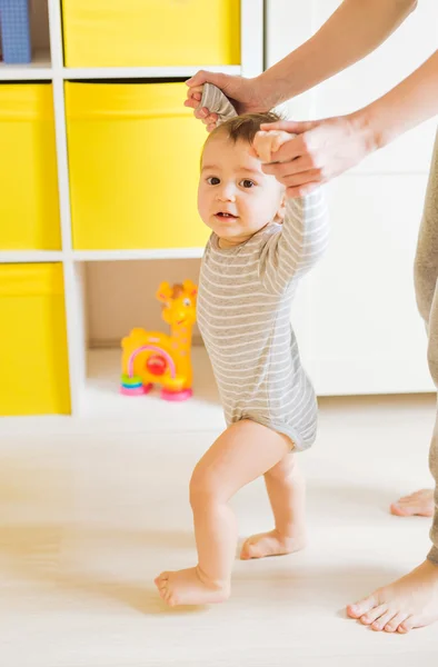
[[[161,282],[157,299],[163,303],[162,319],[170,325],[170,335],[132,329],[122,339],[121,394],[149,394],[159,384],[165,400],[187,400],[192,396],[190,348],[197,293],[191,280],[173,287]]]

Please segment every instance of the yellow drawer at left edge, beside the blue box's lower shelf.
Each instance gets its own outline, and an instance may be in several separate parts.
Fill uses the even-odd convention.
[[[0,249],[61,247],[52,87],[0,84]]]

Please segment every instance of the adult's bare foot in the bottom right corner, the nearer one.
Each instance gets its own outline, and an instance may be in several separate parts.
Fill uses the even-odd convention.
[[[409,633],[438,620],[438,565],[425,560],[390,586],[347,607],[347,614],[374,630]]]

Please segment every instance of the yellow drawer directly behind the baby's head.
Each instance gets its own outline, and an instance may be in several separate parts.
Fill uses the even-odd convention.
[[[73,246],[190,248],[206,130],[183,83],[66,83]]]

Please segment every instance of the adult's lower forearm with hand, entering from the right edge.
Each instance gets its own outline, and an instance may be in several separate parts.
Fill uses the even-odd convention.
[[[300,197],[358,165],[399,135],[438,115],[438,51],[364,109],[323,120],[279,121],[261,129],[295,135],[263,163],[265,173]],[[409,162],[409,156],[406,156]]]

